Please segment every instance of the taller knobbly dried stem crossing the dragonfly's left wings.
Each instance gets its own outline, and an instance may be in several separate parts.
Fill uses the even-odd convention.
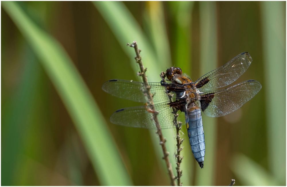
[[[135,49],[135,54],[137,55],[135,57],[135,60],[139,64],[139,68],[140,68],[140,72],[139,72],[138,75],[142,77],[144,84],[146,84],[146,86],[148,86],[148,84],[147,84],[148,83],[148,79],[146,77],[146,70],[147,69],[144,68],[144,65],[142,63],[141,56],[139,54],[141,52],[141,50],[137,47],[137,42],[134,41],[131,45],[130,44],[127,44],[127,45],[129,47],[133,47]],[[153,119],[154,119],[154,122],[156,124],[156,128],[157,128],[156,133],[158,134],[158,136],[160,138],[160,145],[162,147],[162,152],[164,154],[163,159],[166,162],[166,167],[167,167],[168,174],[169,174],[169,177],[170,177],[171,185],[172,186],[176,186],[175,181],[174,181],[174,174],[172,172],[171,163],[170,163],[169,158],[168,158],[169,153],[166,150],[166,145],[165,145],[166,139],[162,135],[162,131],[160,129],[160,124],[159,124],[158,118],[157,118],[158,112],[155,111],[154,108],[153,108],[153,105],[154,105],[154,102],[153,102],[153,99],[152,99],[153,95],[150,93],[150,89],[149,88],[147,88],[146,94],[147,94],[147,97],[148,97],[148,105],[151,106],[151,111],[153,113]]]

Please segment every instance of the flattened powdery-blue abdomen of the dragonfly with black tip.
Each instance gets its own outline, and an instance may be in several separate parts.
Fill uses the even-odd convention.
[[[188,113],[189,122],[187,125],[187,133],[189,137],[189,144],[194,158],[199,166],[203,168],[203,161],[205,155],[205,141],[202,126],[202,118],[200,109],[195,109]]]

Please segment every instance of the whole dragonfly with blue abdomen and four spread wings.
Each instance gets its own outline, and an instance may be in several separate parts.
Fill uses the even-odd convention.
[[[241,53],[195,82],[183,74],[179,67],[167,69],[160,82],[109,80],[102,86],[105,92],[146,103],[143,106],[119,109],[111,115],[110,121],[146,129],[175,128],[185,124],[193,156],[203,168],[205,138],[201,113],[208,117],[227,115],[242,107],[259,92],[261,84],[256,80],[246,80],[224,88],[236,81],[251,62],[248,52]],[[154,120],[154,113],[160,126]]]

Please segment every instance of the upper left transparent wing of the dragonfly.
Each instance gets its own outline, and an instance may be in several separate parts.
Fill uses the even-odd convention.
[[[184,89],[180,84],[166,83],[164,85],[171,90],[181,91]],[[154,95],[153,101],[156,102],[169,101],[166,94],[166,86],[162,86],[160,82],[144,84],[142,82],[113,79],[105,82],[102,89],[113,96],[136,102],[147,102],[147,90],[149,89]]]

